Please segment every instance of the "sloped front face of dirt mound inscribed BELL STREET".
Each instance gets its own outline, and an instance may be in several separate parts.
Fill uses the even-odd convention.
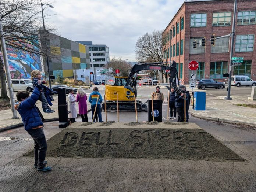
[[[47,146],[51,157],[244,160],[202,129],[66,128]]]

